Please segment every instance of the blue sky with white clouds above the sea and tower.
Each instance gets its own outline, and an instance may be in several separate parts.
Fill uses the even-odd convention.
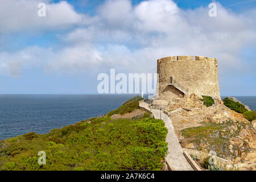
[[[155,73],[162,57],[200,55],[218,60],[222,96],[256,96],[256,0],[0,2],[0,94],[97,94],[111,68]]]

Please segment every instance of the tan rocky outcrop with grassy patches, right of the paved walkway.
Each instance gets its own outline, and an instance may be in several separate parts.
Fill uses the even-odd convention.
[[[189,101],[192,103],[193,99],[189,98]],[[195,132],[195,135],[189,138],[180,133],[183,147],[207,153],[211,150],[216,151],[217,156],[234,164],[235,170],[256,169],[256,121],[249,122],[242,114],[221,104],[183,111],[181,114],[172,115],[171,119],[175,129],[179,130],[178,134],[186,128],[200,127],[201,121],[210,122],[209,125],[203,124],[203,127],[207,127],[201,134],[209,133],[203,138],[196,133],[199,131],[196,128],[190,131]]]

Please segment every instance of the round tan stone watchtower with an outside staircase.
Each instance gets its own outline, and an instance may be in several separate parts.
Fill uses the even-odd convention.
[[[172,100],[192,93],[221,100],[217,59],[172,56],[158,60],[158,99]]]

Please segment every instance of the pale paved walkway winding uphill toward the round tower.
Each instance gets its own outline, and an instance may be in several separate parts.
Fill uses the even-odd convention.
[[[140,103],[139,106],[150,110],[146,102]],[[151,112],[154,114],[155,119],[160,119],[160,110],[151,109]],[[187,159],[185,159],[183,155],[183,151],[174,132],[174,126],[172,126],[171,119],[168,117],[168,115],[164,114],[163,111],[161,112],[161,119],[163,119],[164,123],[166,123],[165,126],[168,129],[168,134],[166,137],[166,142],[168,143],[168,160],[177,171],[193,171],[193,168],[190,166]]]

